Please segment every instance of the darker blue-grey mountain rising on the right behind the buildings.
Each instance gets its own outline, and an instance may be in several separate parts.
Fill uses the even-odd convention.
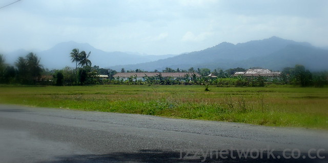
[[[303,64],[311,70],[328,69],[328,50],[318,49],[309,43],[299,43],[279,37],[270,37],[263,40],[253,40],[237,45],[223,42],[214,47],[181,54],[156,62],[144,64],[110,67],[114,70],[142,69],[147,71],[163,70],[166,67],[187,70],[194,68],[229,69],[234,67],[263,67],[272,70],[281,70],[284,67],[294,67]]]

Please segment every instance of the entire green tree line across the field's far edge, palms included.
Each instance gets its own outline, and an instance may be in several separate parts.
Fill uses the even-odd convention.
[[[131,76],[128,80],[114,78],[117,72],[111,69],[99,68],[93,66],[89,59],[91,52],[79,51],[73,49],[69,55],[75,68],[65,67],[61,70],[48,70],[40,65],[40,59],[34,53],[28,53],[25,57],[18,57],[14,66],[5,63],[4,56],[0,54],[0,83],[1,84],[23,84],[23,85],[56,85],[56,86],[74,86],[74,85],[98,85],[98,84],[147,84],[147,85],[216,85],[226,86],[251,86],[263,87],[268,84],[277,85],[300,85],[303,87],[315,86],[323,87],[328,85],[328,72],[310,72],[302,65],[295,67],[286,67],[281,72],[280,77],[245,77],[239,75],[233,77],[235,72],[244,72],[244,68],[231,68],[227,70],[193,67],[188,70],[179,68],[165,68],[162,71],[153,72],[186,72],[185,77],[172,78],[157,76],[146,76],[144,80],[137,80],[136,76]],[[125,70],[120,72],[148,72],[141,69]],[[199,73],[201,77],[189,74]],[[100,79],[99,75],[108,75],[107,79]],[[159,73],[160,74],[160,73]],[[211,77],[209,76],[210,74]],[[215,76],[215,77],[213,77]]]

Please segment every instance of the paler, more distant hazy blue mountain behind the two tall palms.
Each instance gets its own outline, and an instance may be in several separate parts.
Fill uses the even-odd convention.
[[[78,48],[80,51],[91,51],[90,60],[92,66],[109,67],[115,65],[127,65],[151,62],[158,59],[168,58],[175,55],[137,55],[126,52],[105,52],[103,50],[96,49],[89,44],[79,44],[75,42],[65,42],[55,45],[53,48],[45,51],[39,51],[36,53],[40,58],[40,64],[44,65],[48,69],[62,69],[65,66],[74,67],[75,64],[71,62],[70,52],[72,49]],[[18,56],[25,56],[31,51],[17,50],[9,54],[5,54],[6,63],[13,64]]]

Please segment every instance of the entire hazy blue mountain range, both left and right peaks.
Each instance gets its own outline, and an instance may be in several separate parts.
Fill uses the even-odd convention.
[[[284,67],[304,65],[312,71],[328,70],[328,50],[312,46],[309,43],[300,43],[279,37],[270,37],[263,40],[253,40],[247,43],[231,44],[223,42],[214,47],[183,53],[180,55],[137,55],[126,52],[105,52],[89,44],[75,42],[60,43],[53,48],[35,52],[41,58],[41,64],[49,69],[61,69],[65,66],[74,67],[69,53],[79,48],[86,52],[91,51],[92,65],[101,68],[111,68],[120,71],[126,70],[187,70],[191,67],[213,69],[251,68],[262,67],[271,70],[282,70]],[[13,64],[18,56],[25,56],[30,51],[18,50],[6,56],[6,62]]]

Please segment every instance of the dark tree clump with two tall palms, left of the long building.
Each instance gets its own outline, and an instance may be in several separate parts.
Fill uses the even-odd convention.
[[[18,57],[13,66],[6,64],[4,56],[0,54],[0,84],[56,86],[101,84],[98,74],[104,70],[91,67],[90,53],[73,49],[70,56],[72,63],[75,63],[75,69],[65,67],[51,71],[44,69],[44,66],[40,65],[40,58],[32,52],[25,57]]]

